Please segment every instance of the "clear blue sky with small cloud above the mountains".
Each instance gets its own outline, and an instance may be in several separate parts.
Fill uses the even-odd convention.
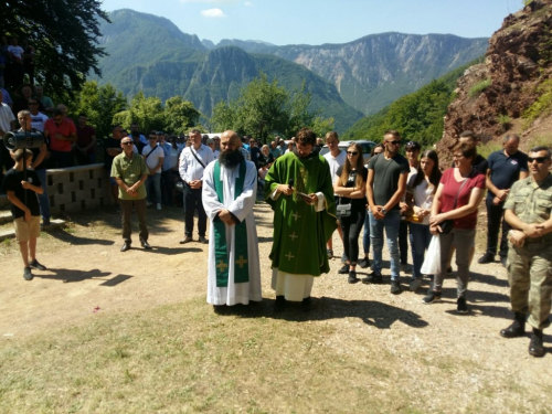
[[[185,33],[283,44],[346,43],[383,32],[489,38],[521,0],[104,0],[164,17]]]

